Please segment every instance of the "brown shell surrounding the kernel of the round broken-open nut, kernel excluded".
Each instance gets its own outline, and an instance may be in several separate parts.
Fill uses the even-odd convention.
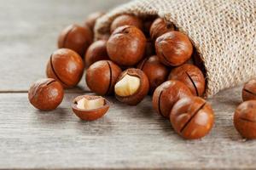
[[[126,71],[123,71],[121,75],[119,76],[119,79],[117,82],[123,79],[126,75],[129,75],[131,77],[138,77],[140,79],[140,87],[137,89],[137,92],[135,94],[129,95],[129,96],[119,96],[115,94],[116,99],[118,99],[120,102],[125,103],[127,105],[138,105],[148,94],[149,90],[149,82],[148,77],[145,75],[145,73],[139,69],[127,69]]]

